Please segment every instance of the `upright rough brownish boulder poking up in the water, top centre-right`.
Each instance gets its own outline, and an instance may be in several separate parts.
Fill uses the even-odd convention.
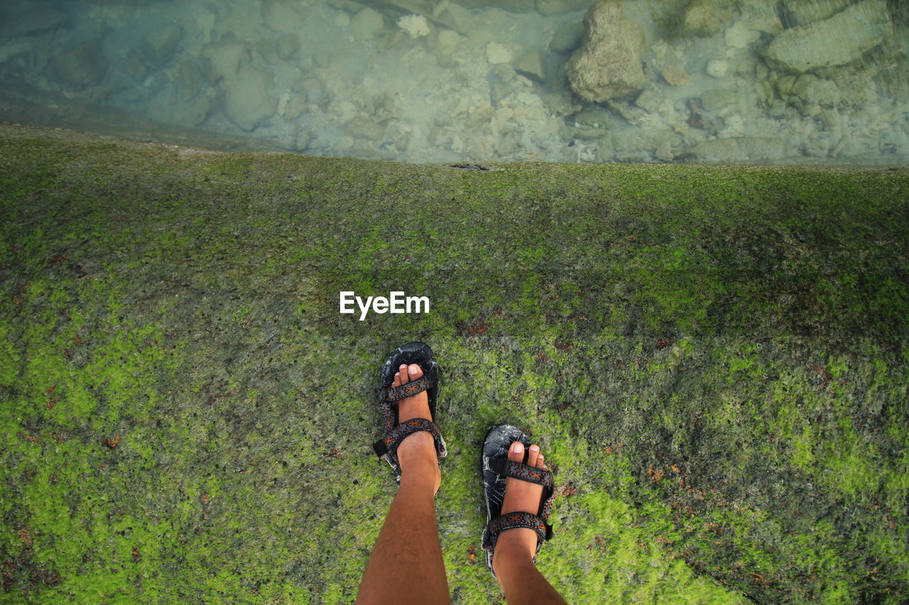
[[[584,42],[568,60],[574,94],[602,103],[644,88],[644,33],[622,18],[622,6],[602,0],[584,15]]]

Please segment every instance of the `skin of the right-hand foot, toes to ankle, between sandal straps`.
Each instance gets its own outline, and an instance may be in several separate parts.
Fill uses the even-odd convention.
[[[521,462],[527,466],[546,470],[544,455],[536,444],[527,449],[527,461],[524,462],[524,444],[514,441],[508,449],[508,460]],[[530,481],[521,481],[509,477],[505,482],[505,495],[502,501],[502,512],[531,512],[534,515],[540,510],[543,498],[543,486]],[[514,528],[499,534],[493,553],[493,568],[496,574],[503,567],[503,561],[533,561],[536,553],[537,534],[528,528]]]

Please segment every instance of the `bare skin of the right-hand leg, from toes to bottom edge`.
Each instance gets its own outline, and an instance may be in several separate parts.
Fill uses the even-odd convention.
[[[520,441],[512,443],[508,459],[524,461],[524,445]],[[536,445],[530,446],[527,464],[538,469],[545,469],[544,456]],[[527,511],[536,512],[543,497],[543,486],[528,481],[508,478],[505,484],[505,497],[502,512]],[[561,603],[565,601],[550,585],[534,565],[536,551],[536,532],[526,528],[503,531],[495,542],[493,569],[502,585],[508,605],[530,605],[533,603]],[[541,551],[542,552],[542,551]]]

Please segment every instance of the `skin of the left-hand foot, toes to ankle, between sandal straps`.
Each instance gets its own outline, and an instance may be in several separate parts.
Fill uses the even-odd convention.
[[[423,376],[423,370],[416,363],[406,365],[402,363],[395,372],[393,387],[413,382]],[[398,400],[398,422],[407,422],[415,418],[432,420],[429,411],[429,398],[426,392],[418,392],[412,397]],[[398,462],[401,464],[401,482],[408,481],[426,482],[433,484],[433,493],[439,490],[442,475],[439,472],[438,457],[435,451],[433,436],[426,431],[416,431],[405,437],[397,449]]]

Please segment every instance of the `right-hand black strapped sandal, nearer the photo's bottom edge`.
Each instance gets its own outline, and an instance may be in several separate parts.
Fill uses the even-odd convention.
[[[527,461],[527,448],[530,440],[517,427],[511,424],[499,424],[486,433],[483,443],[483,456],[481,470],[483,472],[483,487],[486,499],[486,526],[483,529],[483,550],[486,551],[486,565],[493,570],[493,552],[499,534],[505,530],[519,527],[536,531],[536,555],[540,553],[543,542],[553,537],[553,526],[548,522],[549,514],[553,511],[555,499],[555,484],[552,471],[534,469],[508,460],[508,449],[514,441],[524,443],[524,462]],[[530,481],[543,486],[543,497],[540,499],[540,508],[534,512],[508,512],[502,513],[502,502],[505,497],[505,484],[508,477]]]

